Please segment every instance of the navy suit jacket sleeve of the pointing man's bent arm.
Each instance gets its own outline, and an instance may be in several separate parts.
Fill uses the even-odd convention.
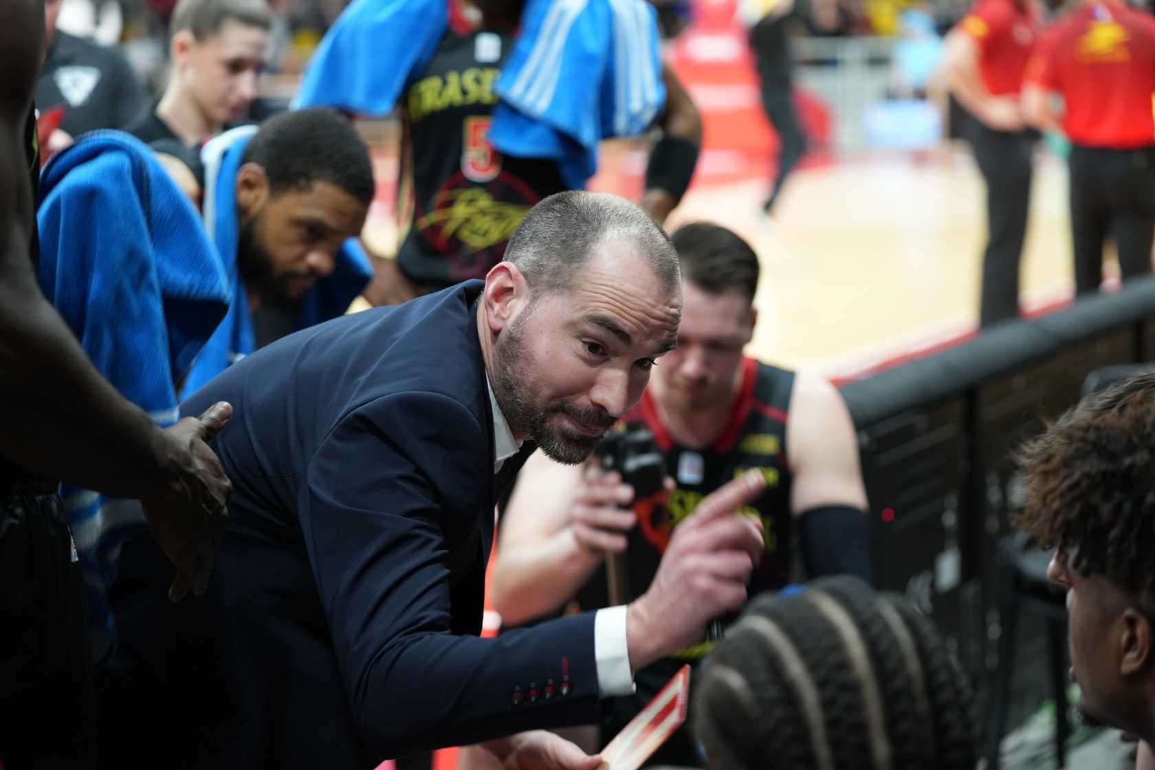
[[[346,417],[308,465],[301,528],[352,717],[381,756],[599,718],[593,614],[449,633],[445,533],[493,515],[487,441],[462,404],[408,393]],[[553,697],[530,703],[550,679]]]

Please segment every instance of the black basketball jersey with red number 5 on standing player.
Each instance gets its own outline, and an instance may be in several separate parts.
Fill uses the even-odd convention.
[[[470,29],[450,3],[450,25],[429,66],[411,77],[412,217],[401,269],[429,287],[484,278],[526,212],[565,188],[552,160],[517,158],[487,140],[508,32]]]

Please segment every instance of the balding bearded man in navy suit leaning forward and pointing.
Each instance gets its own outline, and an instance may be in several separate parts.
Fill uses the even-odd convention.
[[[506,767],[593,770],[523,731],[596,722],[634,671],[742,605],[762,543],[736,511],[759,474],[678,528],[633,604],[476,636],[495,501],[535,448],[590,455],[676,345],[681,306],[669,239],[623,199],[546,199],[507,260],[291,335],[182,405],[234,405],[214,443],[229,531],[206,595],[180,605],[156,600],[155,547],[126,546],[117,705],[139,722],[133,740],[105,731],[102,756],[351,770],[491,741]]]

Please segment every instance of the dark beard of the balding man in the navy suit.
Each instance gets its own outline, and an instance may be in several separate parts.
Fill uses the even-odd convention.
[[[582,409],[564,401],[553,402],[545,409],[537,409],[530,403],[521,374],[527,367],[524,326],[531,312],[532,308],[522,313],[498,338],[493,395],[515,434],[528,434],[550,459],[576,465],[594,453],[602,436],[588,436],[553,426],[550,418],[558,413],[568,414],[584,425],[604,426],[606,431],[616,419],[605,410]]]

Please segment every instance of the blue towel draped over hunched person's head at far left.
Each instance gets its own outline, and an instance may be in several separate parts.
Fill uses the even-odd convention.
[[[158,425],[177,421],[177,381],[224,317],[229,284],[200,217],[140,141],[85,134],[40,178],[39,283],[96,368]],[[114,640],[104,586],[136,501],[61,488],[84,573],[94,643]]]

